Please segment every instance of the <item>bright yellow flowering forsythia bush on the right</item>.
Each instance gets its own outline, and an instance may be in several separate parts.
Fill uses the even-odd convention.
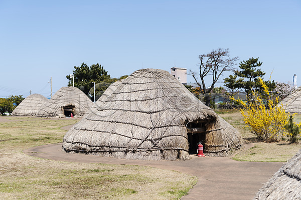
[[[251,127],[252,133],[265,141],[279,141],[284,134],[287,134],[285,124],[289,113],[285,113],[282,105],[277,106],[278,98],[274,102],[268,92],[268,87],[261,78],[259,80],[267,96],[268,109],[258,93],[253,92],[254,100],[249,105],[241,99],[231,99],[243,105],[244,109],[240,109],[240,112],[244,117],[244,122]]]

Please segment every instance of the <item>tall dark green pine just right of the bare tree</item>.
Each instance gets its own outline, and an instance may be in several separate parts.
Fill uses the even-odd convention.
[[[247,101],[249,103],[252,90],[258,90],[260,88],[260,83],[258,77],[262,78],[265,72],[261,71],[261,69],[257,69],[256,67],[261,66],[262,62],[258,61],[257,58],[249,58],[247,61],[243,60],[239,63],[239,68],[241,70],[236,70],[234,72],[235,75],[244,78],[238,85],[239,88],[243,88],[247,95]]]

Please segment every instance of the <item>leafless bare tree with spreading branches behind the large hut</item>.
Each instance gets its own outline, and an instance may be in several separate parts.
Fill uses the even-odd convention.
[[[199,55],[199,71],[195,72],[189,70],[189,74],[195,79],[196,83],[200,86],[201,92],[203,94],[210,93],[214,88],[214,84],[218,81],[220,76],[224,71],[230,71],[234,69],[238,57],[230,58],[229,49],[218,48],[217,50],[212,50],[208,54]],[[204,78],[208,75],[212,76],[211,86],[206,89],[206,84]],[[198,81],[200,77],[201,82]]]

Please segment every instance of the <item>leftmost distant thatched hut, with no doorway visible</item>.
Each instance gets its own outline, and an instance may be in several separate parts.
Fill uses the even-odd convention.
[[[12,115],[15,116],[31,116],[36,115],[41,106],[45,105],[48,98],[41,94],[31,94],[14,109]]]

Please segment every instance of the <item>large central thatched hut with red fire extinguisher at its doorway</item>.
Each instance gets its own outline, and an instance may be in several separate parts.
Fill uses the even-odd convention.
[[[235,128],[167,71],[140,69],[112,86],[65,134],[65,151],[185,160],[200,141],[211,156],[226,156],[242,145]]]

